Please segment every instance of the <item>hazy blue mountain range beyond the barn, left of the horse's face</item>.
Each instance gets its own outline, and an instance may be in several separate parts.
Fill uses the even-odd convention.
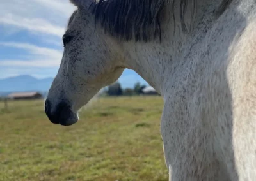
[[[53,78],[38,79],[29,75],[0,79],[0,92],[40,91],[46,92],[51,87]],[[0,93],[1,94],[1,93]]]

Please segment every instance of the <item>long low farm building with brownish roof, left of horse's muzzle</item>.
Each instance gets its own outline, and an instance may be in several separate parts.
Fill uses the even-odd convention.
[[[39,92],[13,92],[7,96],[8,99],[42,99],[43,96]]]

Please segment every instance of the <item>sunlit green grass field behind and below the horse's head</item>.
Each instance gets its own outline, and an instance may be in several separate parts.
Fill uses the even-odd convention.
[[[43,101],[0,102],[0,180],[168,180],[161,97],[100,98],[73,126]]]

